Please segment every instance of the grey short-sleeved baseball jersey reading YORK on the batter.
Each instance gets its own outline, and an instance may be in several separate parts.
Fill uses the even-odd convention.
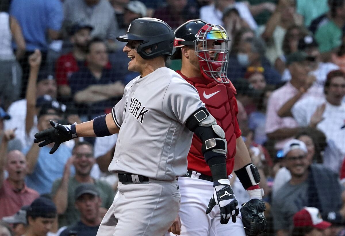
[[[120,132],[109,171],[167,181],[185,175],[193,138],[185,122],[204,105],[197,90],[166,67],[129,82],[111,112]]]

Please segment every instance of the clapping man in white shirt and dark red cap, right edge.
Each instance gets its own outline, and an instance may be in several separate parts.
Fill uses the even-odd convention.
[[[325,151],[324,156],[324,165],[338,173],[345,156],[345,128],[342,128],[345,125],[345,73],[341,70],[329,72],[324,92],[324,99],[302,99],[295,103],[291,112],[300,126],[318,128],[325,133],[327,143],[339,150],[333,155]]]

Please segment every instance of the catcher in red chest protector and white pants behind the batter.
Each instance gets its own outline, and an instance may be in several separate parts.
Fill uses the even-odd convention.
[[[228,41],[222,26],[190,20],[175,31],[175,51],[171,59],[182,59],[181,70],[177,73],[198,90],[200,99],[225,131],[227,175],[235,170],[250,195],[250,201],[243,204],[242,216],[238,215],[235,223],[221,222],[219,207],[213,207],[213,199],[209,201],[214,181],[201,151],[203,143],[194,135],[187,158],[188,173],[178,179],[182,195],[180,221],[177,217],[171,226],[169,232],[173,234],[254,236],[263,232],[266,225],[263,190],[259,188],[260,175],[243,142],[236,117],[236,89],[226,76]]]

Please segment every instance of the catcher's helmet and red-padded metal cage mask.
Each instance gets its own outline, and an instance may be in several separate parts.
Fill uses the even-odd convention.
[[[185,24],[189,25],[194,23],[194,25],[200,25],[200,22],[202,21],[191,20]],[[179,59],[180,47],[194,45],[195,53],[199,58],[201,74],[211,81],[216,80],[219,83],[229,83],[229,79],[226,75],[228,67],[229,50],[227,45],[229,37],[225,29],[220,25],[205,23],[201,29],[193,35],[193,39],[190,38],[190,34],[187,35],[189,38],[186,36],[186,39],[184,39],[183,37],[178,37],[178,31],[185,31],[185,27],[181,26],[175,31],[174,54],[176,56],[173,54],[171,59]],[[191,29],[189,28],[189,30]]]

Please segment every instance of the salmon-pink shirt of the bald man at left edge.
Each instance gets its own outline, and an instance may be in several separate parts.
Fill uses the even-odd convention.
[[[0,188],[0,219],[4,216],[14,215],[22,206],[30,205],[39,196],[37,191],[26,185],[18,191],[7,179],[4,180]]]

